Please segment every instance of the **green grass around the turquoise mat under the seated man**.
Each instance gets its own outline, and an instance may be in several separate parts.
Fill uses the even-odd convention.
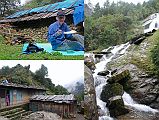
[[[1,60],[83,60],[84,56],[64,56],[59,53],[39,52],[33,54],[22,54],[23,45],[6,45],[4,38],[0,35],[0,59]]]

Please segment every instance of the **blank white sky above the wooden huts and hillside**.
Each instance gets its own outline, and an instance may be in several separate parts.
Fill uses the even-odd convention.
[[[83,60],[3,60],[3,66],[13,67],[17,64],[30,65],[30,70],[35,72],[44,64],[48,68],[48,77],[56,85],[67,85],[84,79]]]

